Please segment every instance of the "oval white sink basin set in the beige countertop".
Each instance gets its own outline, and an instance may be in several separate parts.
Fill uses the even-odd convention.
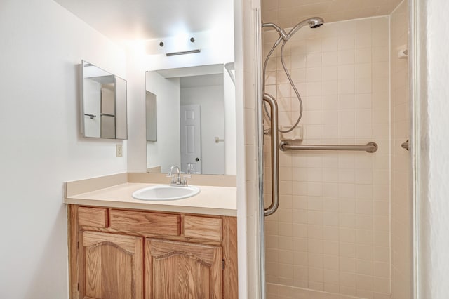
[[[193,197],[199,194],[199,191],[199,187],[194,186],[157,185],[137,190],[133,193],[133,197],[141,200],[166,201]]]

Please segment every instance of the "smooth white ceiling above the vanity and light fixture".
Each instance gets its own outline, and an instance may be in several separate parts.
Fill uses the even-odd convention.
[[[116,41],[147,40],[229,26],[233,0],[55,0]]]

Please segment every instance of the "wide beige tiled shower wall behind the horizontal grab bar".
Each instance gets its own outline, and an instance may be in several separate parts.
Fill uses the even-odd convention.
[[[264,55],[277,37],[264,33]],[[389,298],[389,18],[302,28],[285,56],[304,104],[303,143],[376,142],[379,150],[281,152],[281,203],[265,220],[268,298]],[[266,92],[289,125],[299,105],[281,69],[278,49]]]

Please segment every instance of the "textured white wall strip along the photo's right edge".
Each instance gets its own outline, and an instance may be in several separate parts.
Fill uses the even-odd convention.
[[[448,298],[449,284],[449,3],[414,1],[420,12],[418,174],[420,298]]]

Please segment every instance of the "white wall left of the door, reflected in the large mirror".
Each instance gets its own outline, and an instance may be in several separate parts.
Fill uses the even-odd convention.
[[[146,88],[157,97],[158,115],[157,141],[147,142],[147,167],[161,166],[168,173],[170,166],[181,165],[180,79],[147,72]]]

